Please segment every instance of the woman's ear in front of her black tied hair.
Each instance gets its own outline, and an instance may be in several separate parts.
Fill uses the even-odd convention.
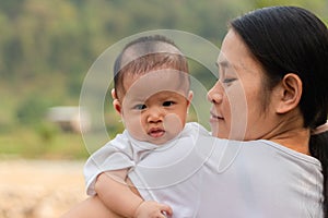
[[[278,87],[277,113],[286,113],[296,108],[301,100],[302,90],[302,81],[298,75],[294,73],[284,75]]]

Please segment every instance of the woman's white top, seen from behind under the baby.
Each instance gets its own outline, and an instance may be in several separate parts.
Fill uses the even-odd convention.
[[[196,145],[149,154],[130,171],[144,199],[168,204],[174,218],[324,216],[317,159],[269,141],[199,136]]]

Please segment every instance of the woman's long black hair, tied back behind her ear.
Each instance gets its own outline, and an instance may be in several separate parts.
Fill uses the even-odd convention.
[[[271,7],[231,22],[266,71],[271,89],[286,73],[303,83],[300,109],[304,128],[326,123],[328,112],[328,31],[312,12],[297,7]],[[328,218],[328,132],[312,135],[311,155],[323,166],[324,214]]]

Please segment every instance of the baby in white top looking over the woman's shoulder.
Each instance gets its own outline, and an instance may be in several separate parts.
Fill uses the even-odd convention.
[[[209,135],[201,125],[186,123],[192,99],[187,59],[166,37],[145,36],[124,48],[114,73],[113,106],[126,130],[86,161],[86,192],[124,217],[171,216],[168,205],[144,201],[126,181],[148,154]]]

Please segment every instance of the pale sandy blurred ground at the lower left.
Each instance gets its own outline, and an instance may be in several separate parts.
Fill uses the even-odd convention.
[[[83,161],[0,160],[0,218],[58,218],[84,199]]]

